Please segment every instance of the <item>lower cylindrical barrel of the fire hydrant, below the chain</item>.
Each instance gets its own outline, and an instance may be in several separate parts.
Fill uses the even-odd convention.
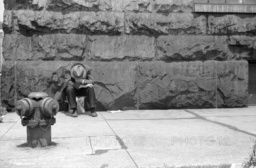
[[[47,126],[42,126],[46,129]],[[27,126],[27,145],[31,148],[46,147],[50,146],[52,143],[51,137],[51,126],[48,127],[46,131],[41,129],[39,126],[35,128],[30,128]]]

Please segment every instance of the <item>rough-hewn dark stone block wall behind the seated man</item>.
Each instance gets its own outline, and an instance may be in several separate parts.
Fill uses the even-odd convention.
[[[256,15],[195,13],[195,0],[5,0],[1,99],[59,99],[89,65],[98,111],[247,106]]]

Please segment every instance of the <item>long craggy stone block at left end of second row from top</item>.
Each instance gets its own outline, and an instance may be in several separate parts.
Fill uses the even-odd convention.
[[[5,34],[19,33],[25,36],[33,34],[51,33],[78,33],[80,23],[80,13],[61,13],[52,11],[11,11],[12,20],[5,19],[3,28],[8,28]],[[5,27],[9,24],[9,27]]]

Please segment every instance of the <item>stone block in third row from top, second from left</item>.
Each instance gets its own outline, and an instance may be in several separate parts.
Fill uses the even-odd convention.
[[[33,35],[33,40],[33,52],[36,60],[83,61],[86,59],[86,35]]]

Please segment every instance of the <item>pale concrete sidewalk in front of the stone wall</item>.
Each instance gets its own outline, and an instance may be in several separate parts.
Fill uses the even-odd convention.
[[[5,115],[0,167],[230,167],[256,138],[256,106],[70,115],[58,112],[45,148],[26,147],[19,116]]]

